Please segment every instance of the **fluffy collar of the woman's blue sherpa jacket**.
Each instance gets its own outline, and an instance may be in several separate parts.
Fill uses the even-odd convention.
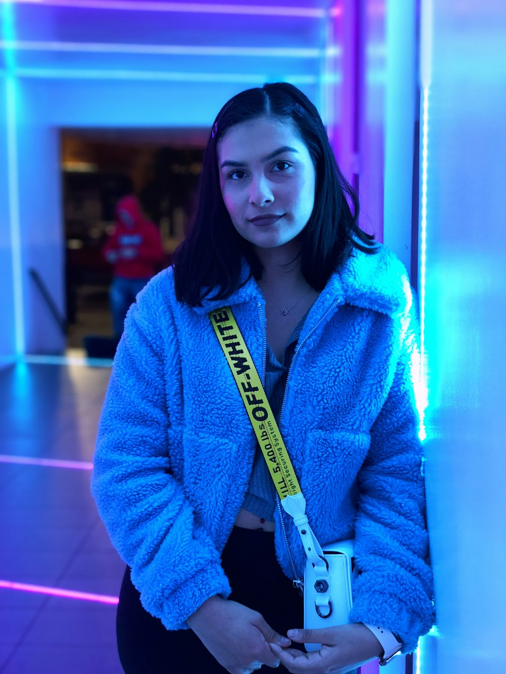
[[[243,280],[248,273],[249,268],[245,262],[242,268]],[[381,244],[372,255],[355,249],[345,264],[332,274],[316,303],[321,309],[325,309],[336,299],[340,300],[339,304],[372,309],[392,317],[409,309],[412,302],[410,282],[403,264]],[[208,313],[226,305],[252,301],[264,303],[254,278],[248,279],[244,286],[235,290],[227,299],[204,299],[202,307],[194,307],[194,311]]]

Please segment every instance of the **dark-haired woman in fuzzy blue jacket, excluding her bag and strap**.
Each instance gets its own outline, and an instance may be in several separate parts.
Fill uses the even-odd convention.
[[[412,297],[357,218],[302,92],[266,84],[225,104],[196,223],[130,310],[99,428],[92,489],[128,564],[117,617],[128,673],[343,674],[388,655],[381,632],[410,652],[430,628]],[[292,582],[304,550],[208,319],[223,305],[264,378],[316,537],[355,537],[348,625],[285,637],[302,627]],[[322,650],[304,654],[309,640]]]

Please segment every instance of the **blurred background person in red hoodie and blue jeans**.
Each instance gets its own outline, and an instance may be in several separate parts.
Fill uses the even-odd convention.
[[[116,226],[102,254],[114,265],[109,298],[114,336],[119,340],[130,305],[165,258],[159,229],[144,217],[134,195],[117,202]]]

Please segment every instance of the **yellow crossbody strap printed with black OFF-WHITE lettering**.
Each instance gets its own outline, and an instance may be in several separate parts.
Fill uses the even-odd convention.
[[[227,357],[279,498],[283,501],[287,496],[301,493],[262,380],[230,307],[211,311],[209,318]]]

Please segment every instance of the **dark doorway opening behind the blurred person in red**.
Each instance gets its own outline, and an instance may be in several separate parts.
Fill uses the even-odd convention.
[[[194,213],[207,135],[206,129],[61,131],[67,353],[82,353],[90,336],[113,332],[112,267],[101,248],[114,228],[117,201],[138,197],[160,229],[165,260],[159,268],[171,264]]]

